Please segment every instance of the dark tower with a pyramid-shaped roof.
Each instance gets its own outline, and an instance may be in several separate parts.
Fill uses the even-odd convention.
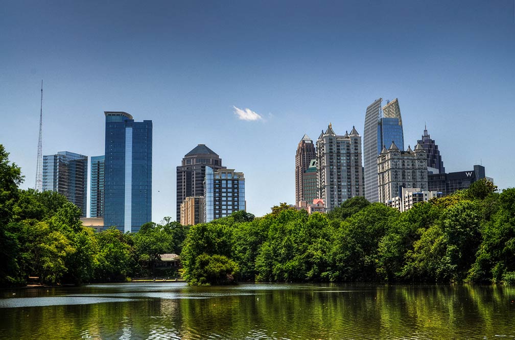
[[[205,167],[225,169],[221,158],[204,144],[199,144],[182,158],[177,167],[177,221],[181,220],[181,203],[190,196],[204,195]]]

